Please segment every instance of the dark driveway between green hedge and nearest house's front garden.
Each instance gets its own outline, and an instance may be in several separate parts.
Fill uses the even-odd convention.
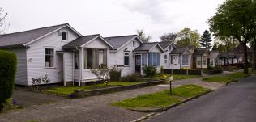
[[[58,101],[65,100],[66,98],[55,96],[55,95],[46,95],[41,93],[35,93],[31,91],[26,91],[20,88],[15,88],[12,98],[15,101],[22,105],[22,107],[29,107],[32,105],[39,105],[45,103],[54,103]]]

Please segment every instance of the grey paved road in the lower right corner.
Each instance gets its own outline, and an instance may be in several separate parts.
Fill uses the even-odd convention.
[[[147,121],[255,122],[256,75],[153,116]]]

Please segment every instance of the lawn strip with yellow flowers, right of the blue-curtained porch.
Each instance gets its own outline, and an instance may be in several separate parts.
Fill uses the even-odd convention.
[[[189,78],[199,78],[201,77],[200,75],[183,75],[183,74],[163,74],[163,75],[158,75],[154,77],[154,79],[165,79],[166,81],[169,80],[169,77],[173,76],[173,80],[180,80],[180,79],[189,79]]]

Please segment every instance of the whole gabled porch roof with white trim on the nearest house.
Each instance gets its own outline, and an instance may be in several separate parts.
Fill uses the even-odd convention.
[[[84,44],[89,43],[92,40],[95,40],[96,38],[100,38],[101,40],[105,41],[106,44],[109,45],[109,47],[113,48],[111,44],[109,44],[100,34],[95,35],[88,35],[88,36],[81,36],[73,41],[71,41],[68,44],[65,44],[62,46],[62,48],[76,48],[76,47],[83,47]]]

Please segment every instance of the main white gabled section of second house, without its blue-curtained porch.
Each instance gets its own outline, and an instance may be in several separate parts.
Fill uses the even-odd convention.
[[[142,40],[136,35],[105,37],[113,49],[109,53],[109,65],[122,68],[121,76],[135,73],[135,48],[143,44]]]

